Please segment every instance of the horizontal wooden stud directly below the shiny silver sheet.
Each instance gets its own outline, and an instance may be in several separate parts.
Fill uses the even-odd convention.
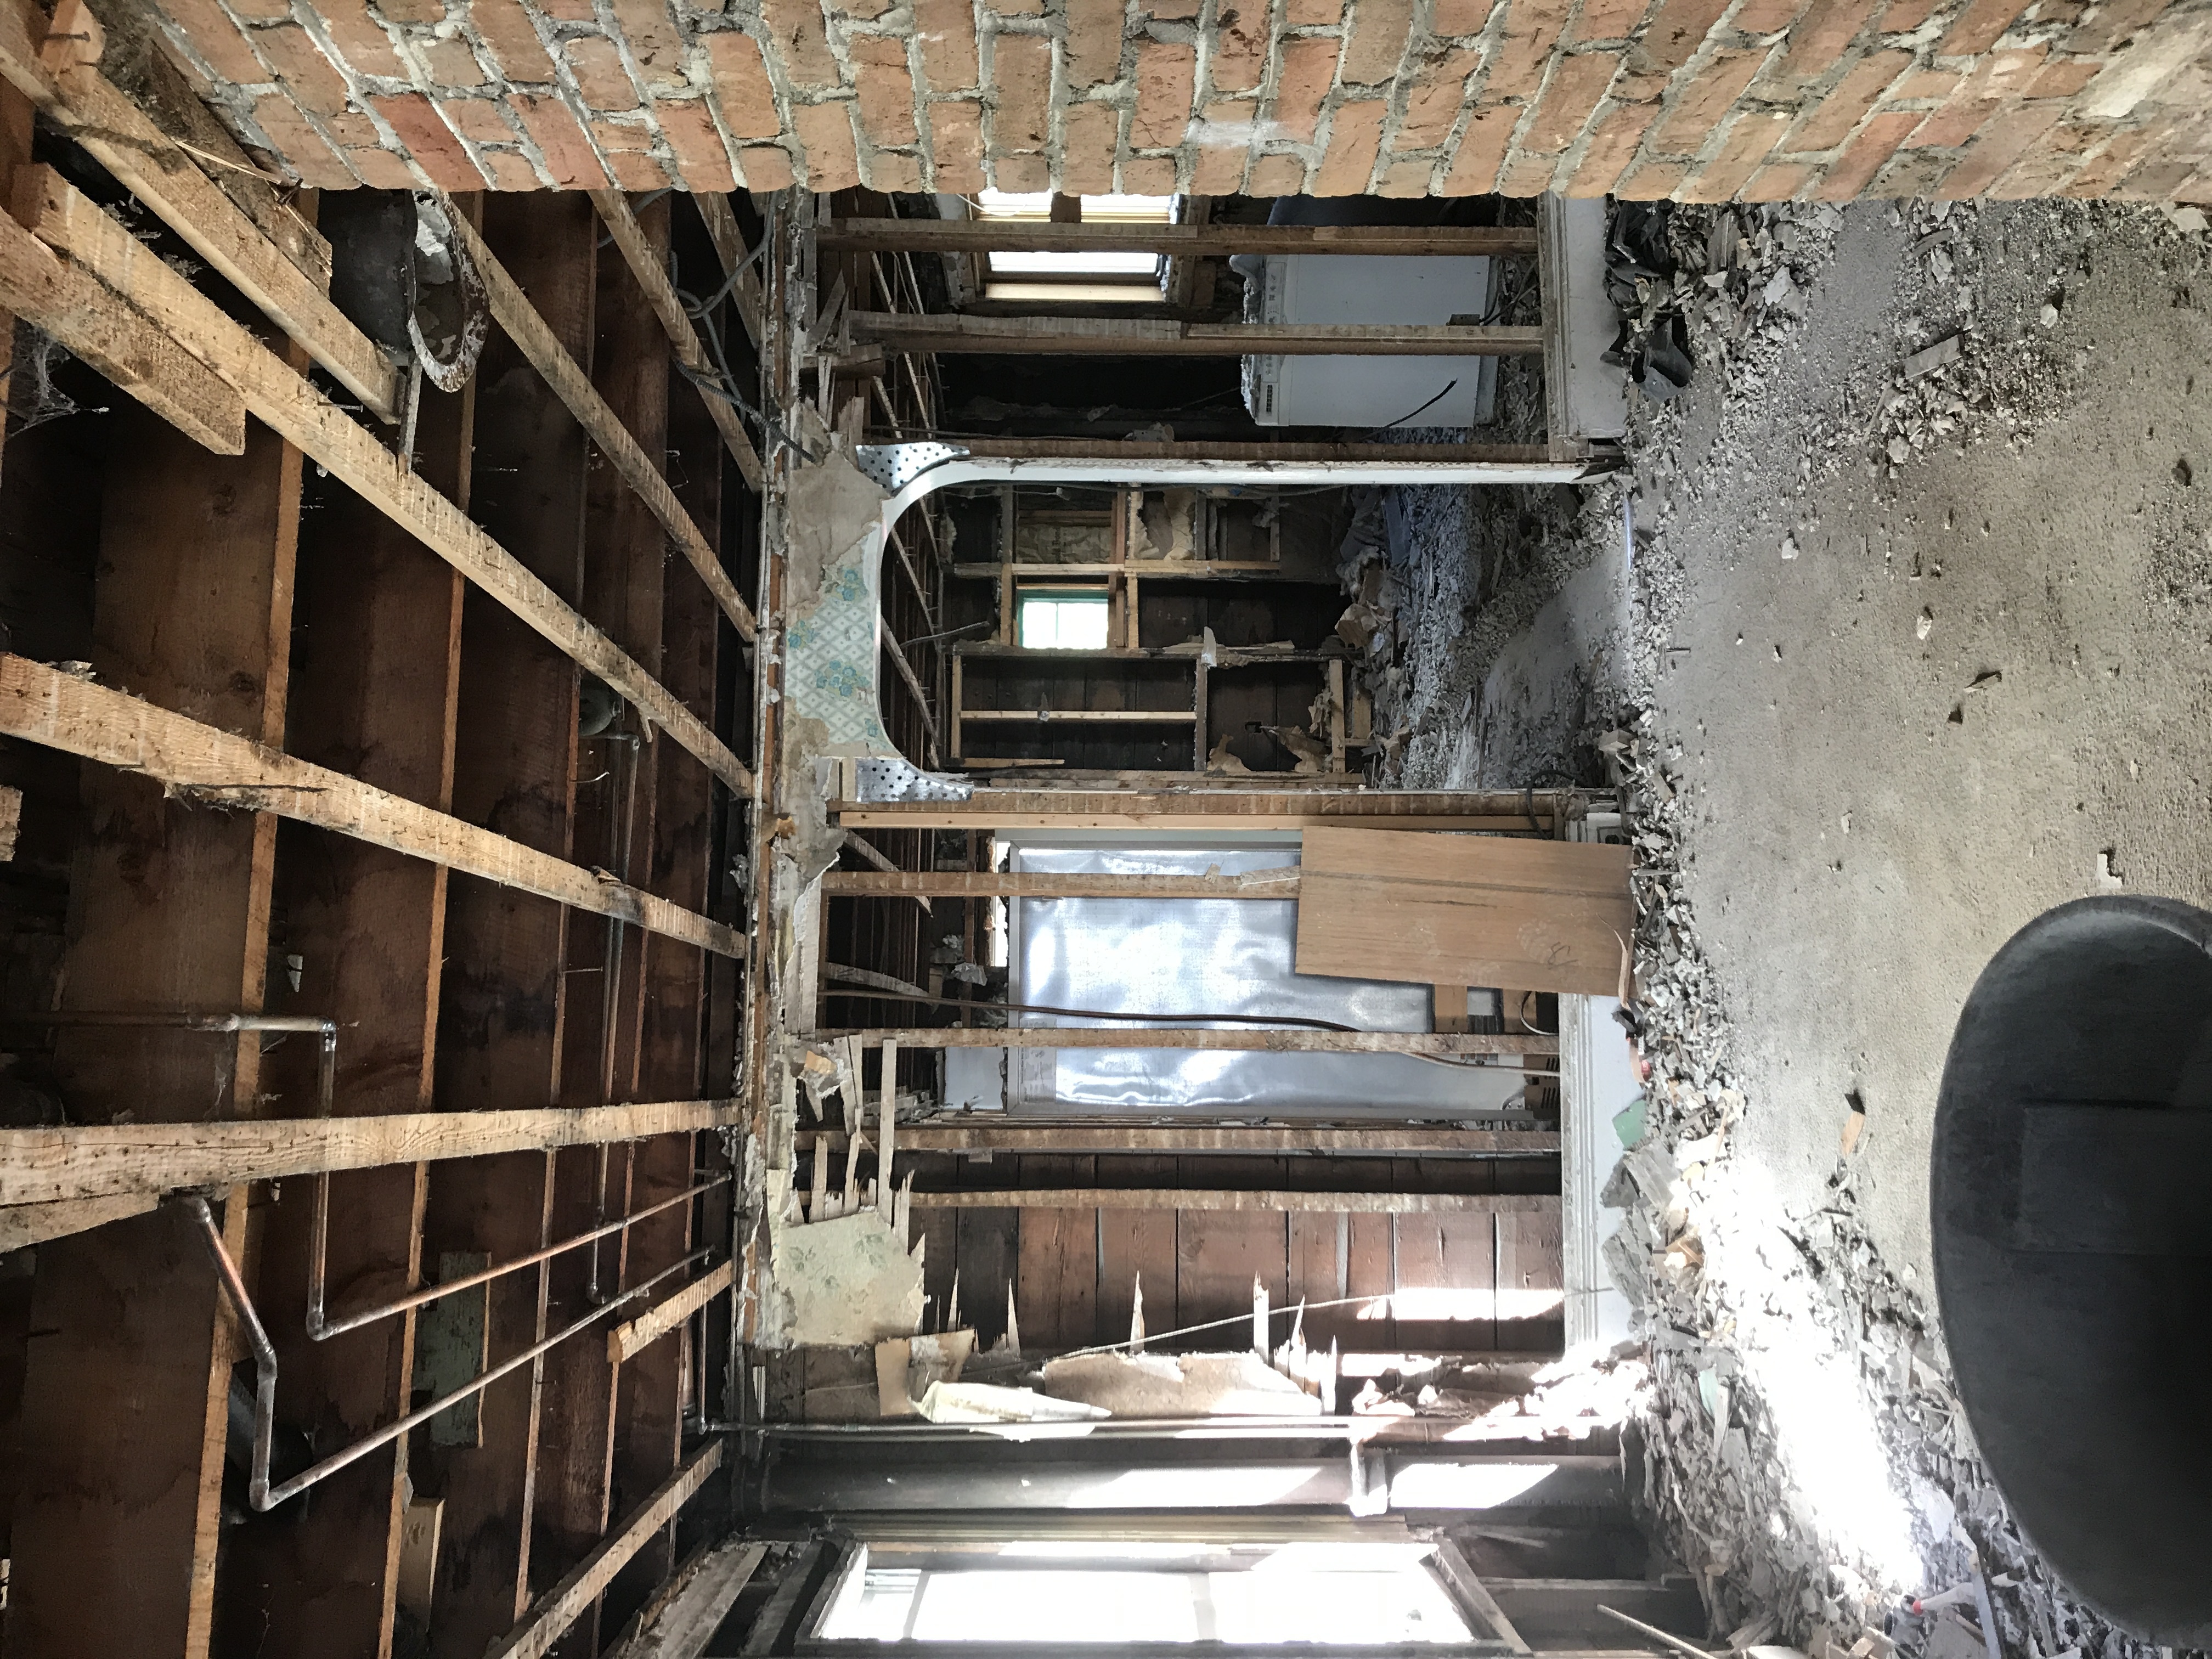
[[[803,1128],[801,1152],[845,1148],[841,1128]],[[1396,1157],[1557,1155],[1559,1137],[1535,1128],[1150,1128],[1128,1124],[900,1124],[907,1152],[1369,1152]]]

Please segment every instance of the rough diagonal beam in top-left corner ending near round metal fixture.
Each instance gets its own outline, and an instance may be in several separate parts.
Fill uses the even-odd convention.
[[[0,75],[77,139],[192,252],[259,305],[307,356],[383,420],[398,418],[398,372],[392,361],[330,303],[239,206],[223,195],[146,113],[97,69],[60,75],[40,62],[44,20],[27,0],[0,0]]]

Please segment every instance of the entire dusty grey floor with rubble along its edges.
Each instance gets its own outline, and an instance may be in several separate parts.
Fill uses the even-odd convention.
[[[1927,1155],[2017,927],[2212,902],[2212,248],[2199,215],[2079,204],[1719,212],[1741,270],[1703,283],[1714,210],[1681,210],[1697,380],[1637,400],[1624,480],[1511,546],[1400,509],[1418,591],[1502,580],[1402,630],[1387,781],[1613,750],[1635,785],[1657,1077],[1621,1261],[1650,1263],[1655,1498],[1721,1617],[1847,1644],[1882,1590],[1966,1571],[1955,1506],[2015,1650],[2110,1652],[1949,1394]]]

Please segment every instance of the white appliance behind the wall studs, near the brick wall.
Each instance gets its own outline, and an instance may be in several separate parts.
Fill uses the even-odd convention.
[[[1484,316],[1493,288],[1489,259],[1272,254],[1245,321],[1449,323]],[[1263,427],[1480,427],[1498,405],[1498,358],[1248,356],[1243,392]]]

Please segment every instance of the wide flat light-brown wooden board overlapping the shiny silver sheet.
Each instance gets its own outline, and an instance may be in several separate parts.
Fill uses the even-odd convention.
[[[1610,995],[1628,847],[1305,830],[1298,973]]]

